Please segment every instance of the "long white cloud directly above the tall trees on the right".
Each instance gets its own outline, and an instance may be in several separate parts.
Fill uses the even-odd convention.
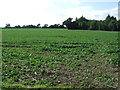
[[[97,19],[104,20],[108,14],[118,18],[118,8],[106,9],[106,10],[94,10],[92,7],[83,6],[76,8],[69,8],[65,10],[58,10],[55,12],[57,16],[63,17],[62,20],[67,19],[68,17],[81,17],[82,15],[87,19]]]

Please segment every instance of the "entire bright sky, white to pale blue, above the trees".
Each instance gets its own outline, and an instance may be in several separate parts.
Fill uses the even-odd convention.
[[[119,0],[0,0],[0,27],[62,24],[69,17],[118,18]]]

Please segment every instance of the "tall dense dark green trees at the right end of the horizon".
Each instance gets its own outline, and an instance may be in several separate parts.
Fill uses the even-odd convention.
[[[88,20],[85,17],[68,18],[63,22],[68,29],[120,31],[120,20],[108,15],[105,20]]]

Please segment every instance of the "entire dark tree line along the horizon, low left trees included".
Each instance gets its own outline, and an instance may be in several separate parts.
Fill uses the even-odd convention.
[[[108,15],[105,20],[88,20],[85,17],[76,18],[73,21],[73,18],[68,18],[65,20],[62,25],[54,24],[48,26],[44,24],[41,26],[37,25],[17,25],[11,27],[10,24],[6,24],[5,28],[67,28],[69,30],[105,30],[105,31],[120,31],[120,20],[117,20],[116,17]]]

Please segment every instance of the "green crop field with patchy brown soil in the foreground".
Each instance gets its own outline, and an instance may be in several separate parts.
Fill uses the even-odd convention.
[[[5,88],[117,88],[118,32],[2,29]]]

